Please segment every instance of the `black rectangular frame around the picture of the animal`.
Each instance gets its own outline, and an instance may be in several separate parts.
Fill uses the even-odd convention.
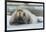
[[[38,4],[43,4],[43,28],[37,28],[37,29],[21,29],[21,30],[7,30],[7,2],[19,2],[19,3],[38,3]],[[7,31],[26,31],[26,30],[44,30],[44,2],[28,2],[28,1],[7,1],[5,0],[5,32]]]

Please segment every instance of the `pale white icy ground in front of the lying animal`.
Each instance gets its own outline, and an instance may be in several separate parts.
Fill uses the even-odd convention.
[[[11,16],[7,16],[7,30],[43,28],[43,22],[42,23],[37,23],[37,24],[10,25],[9,24],[10,18],[11,18]]]

